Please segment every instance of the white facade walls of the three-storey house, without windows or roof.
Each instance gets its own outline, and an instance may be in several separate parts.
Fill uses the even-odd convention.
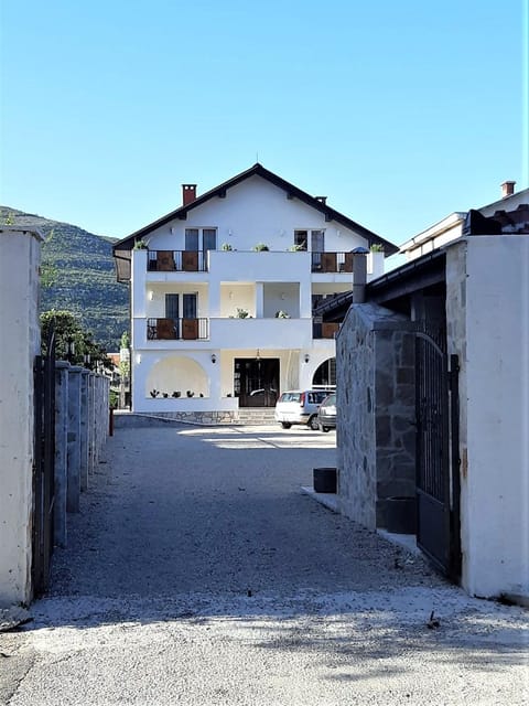
[[[312,295],[350,290],[352,272],[312,272],[311,254],[290,252],[296,229],[321,229],[325,249],[338,253],[367,246],[367,240],[325,215],[298,201],[289,200],[282,189],[252,178],[228,190],[225,199],[212,199],[175,220],[148,238],[150,249],[184,249],[186,228],[216,228],[217,248],[229,243],[233,250],[208,253],[205,272],[148,271],[147,250],[132,252],[131,360],[132,400],[136,411],[180,409],[194,405],[206,410],[231,409],[233,359],[262,354],[280,359],[281,388],[310,386],[320,363],[334,357],[334,340],[312,338]],[[270,252],[256,253],[264,243]],[[311,244],[309,242],[309,248]],[[382,274],[384,255],[370,254],[369,279]],[[164,317],[165,293],[195,291],[197,314],[209,320],[208,340],[158,341],[147,339],[147,318]],[[245,309],[251,320],[230,319]],[[274,319],[287,311],[288,320]],[[233,355],[229,351],[236,349]],[[264,353],[266,351],[266,353]],[[217,364],[212,366],[215,353]],[[304,362],[305,354],[310,363]],[[177,362],[187,359],[187,385],[176,373]],[[140,362],[141,361],[141,362]],[[196,363],[194,367],[192,362]],[[186,370],[187,363],[182,370]],[[180,376],[180,377],[179,377]],[[193,387],[204,398],[152,399],[150,389],[184,392]]]

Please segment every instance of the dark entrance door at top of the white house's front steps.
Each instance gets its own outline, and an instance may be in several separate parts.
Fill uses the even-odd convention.
[[[234,392],[239,407],[274,407],[279,391],[279,359],[235,359]]]

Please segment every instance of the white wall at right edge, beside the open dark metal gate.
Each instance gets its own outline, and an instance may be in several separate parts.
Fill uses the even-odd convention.
[[[461,538],[469,593],[529,595],[529,236],[449,246],[460,356]]]

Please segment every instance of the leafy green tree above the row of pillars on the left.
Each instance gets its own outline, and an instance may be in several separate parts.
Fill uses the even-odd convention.
[[[71,311],[44,311],[41,313],[42,354],[46,355],[51,331],[55,332],[55,357],[69,361],[75,365],[83,365],[95,370],[97,362],[110,366],[104,347],[85,331],[78,319]]]

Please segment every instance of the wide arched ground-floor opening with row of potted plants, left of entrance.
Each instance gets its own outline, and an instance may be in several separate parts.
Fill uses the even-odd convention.
[[[154,394],[158,393],[158,394]],[[209,379],[193,359],[171,355],[149,371],[145,397],[209,397]]]

